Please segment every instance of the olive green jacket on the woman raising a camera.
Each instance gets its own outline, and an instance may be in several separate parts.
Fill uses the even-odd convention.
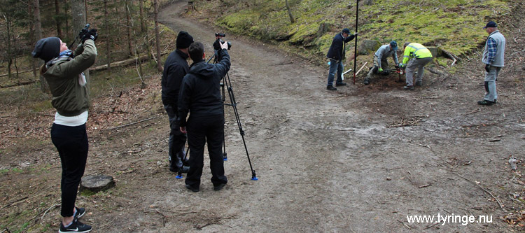
[[[90,108],[89,77],[85,77],[85,85],[80,85],[78,78],[97,58],[94,41],[86,40],[78,45],[74,55],[73,59],[59,60],[48,69],[45,64],[41,67],[41,75],[51,90],[51,104],[64,116],[80,115]]]

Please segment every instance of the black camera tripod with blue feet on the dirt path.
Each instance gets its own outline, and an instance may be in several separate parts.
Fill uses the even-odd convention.
[[[214,58],[215,58],[214,64],[218,63],[217,52],[218,51],[216,50],[214,55],[210,57],[207,63],[209,63],[211,59],[214,59]],[[232,83],[230,80],[230,75],[228,73],[226,73],[226,75],[222,79],[221,90],[222,90],[222,95],[223,95],[223,104],[225,106],[232,106],[233,111],[235,113],[235,120],[237,120],[237,126],[239,127],[239,133],[241,134],[241,137],[242,137],[242,143],[244,144],[244,150],[246,151],[246,157],[248,157],[248,164],[250,164],[251,180],[257,181],[258,178],[255,175],[255,170],[253,170],[253,167],[251,166],[250,155],[248,154],[248,147],[246,146],[246,140],[244,139],[244,129],[242,129],[241,120],[239,118],[239,111],[237,111],[237,101],[235,101],[235,94],[233,94]],[[230,97],[230,104],[226,103],[226,90],[228,90],[228,97]],[[223,115],[224,114],[225,113],[223,111]],[[186,155],[187,154],[188,154],[188,151],[186,151]],[[223,157],[224,157],[224,161],[228,161],[228,153],[226,153],[226,138],[224,134],[223,134]]]

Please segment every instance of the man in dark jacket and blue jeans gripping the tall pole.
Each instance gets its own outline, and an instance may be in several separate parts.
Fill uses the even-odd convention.
[[[343,73],[343,59],[345,53],[346,43],[353,40],[357,36],[357,32],[353,35],[350,35],[350,29],[343,29],[340,34],[334,36],[332,40],[332,45],[330,45],[330,50],[326,57],[330,59],[330,71],[328,71],[328,85],[326,90],[337,90],[333,86],[335,71],[337,71],[337,81],[335,82],[336,86],[344,86],[346,83],[343,83],[342,73]]]

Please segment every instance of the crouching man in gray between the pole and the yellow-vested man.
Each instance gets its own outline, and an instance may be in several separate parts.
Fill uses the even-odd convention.
[[[381,74],[381,75],[388,75],[388,71],[384,71],[384,69],[388,69],[388,61],[386,60],[388,57],[392,56],[392,59],[395,63],[395,68],[398,67],[398,43],[395,41],[391,41],[388,45],[382,45],[379,47],[379,49],[374,54],[374,67],[368,71],[368,74],[365,78],[365,85],[370,84],[370,78],[372,78],[372,73],[374,74]]]

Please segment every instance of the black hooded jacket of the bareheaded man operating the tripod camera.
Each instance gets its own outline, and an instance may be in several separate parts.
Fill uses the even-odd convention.
[[[186,126],[186,117],[212,117],[223,115],[221,97],[221,79],[230,70],[230,55],[221,50],[218,64],[209,64],[204,60],[193,62],[190,71],[184,76],[179,93],[179,122]]]

